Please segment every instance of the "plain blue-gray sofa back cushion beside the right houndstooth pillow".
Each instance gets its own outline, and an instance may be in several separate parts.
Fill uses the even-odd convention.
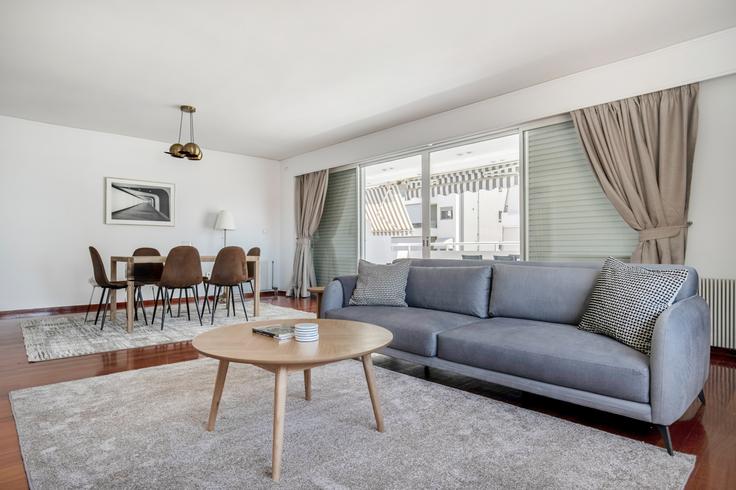
[[[491,316],[577,324],[599,271],[494,264]]]

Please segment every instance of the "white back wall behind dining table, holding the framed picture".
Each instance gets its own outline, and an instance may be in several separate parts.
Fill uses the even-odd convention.
[[[269,288],[279,250],[279,163],[206,148],[191,162],[164,154],[166,147],[0,116],[0,311],[85,304],[89,245],[109,257],[191,242],[214,255],[222,246],[213,229],[220,209],[238,227],[229,245],[261,247]],[[104,224],[105,177],[176,184],[176,226]]]

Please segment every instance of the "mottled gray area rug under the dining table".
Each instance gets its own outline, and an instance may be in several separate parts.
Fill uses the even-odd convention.
[[[227,316],[227,311],[218,305],[215,314],[215,327],[245,322],[245,315],[241,305],[237,305],[237,316]],[[250,321],[275,320],[286,318],[314,318],[314,313],[286,308],[261,301],[260,315],[252,316],[253,302],[245,304]],[[199,325],[197,315],[194,313],[194,304],[190,305],[192,320],[187,320],[186,310],[182,305],[181,316],[173,318],[167,316],[164,329],[161,330],[161,309],[156,313],[158,320],[155,325],[149,323],[146,326],[142,315],[135,322],[133,333],[125,330],[125,311],[118,311],[114,322],[105,321],[105,329],[100,331],[100,322],[94,325],[94,315],[90,314],[87,323],[84,323],[84,315],[63,315],[45,318],[24,320],[20,323],[23,332],[23,343],[26,346],[26,354],[29,362],[48,361],[64,357],[83,356],[96,352],[109,352],[121,349],[132,349],[146,347],[149,345],[170,344],[173,342],[185,342],[192,340],[202,332],[212,328],[210,316],[205,311],[202,318],[204,326]],[[177,306],[173,305],[174,315]],[[146,308],[148,319],[153,314],[153,308]]]

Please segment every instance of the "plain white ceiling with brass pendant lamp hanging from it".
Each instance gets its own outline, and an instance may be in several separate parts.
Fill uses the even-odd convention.
[[[734,0],[3,0],[0,114],[283,159],[736,25]],[[206,158],[206,156],[205,156]]]

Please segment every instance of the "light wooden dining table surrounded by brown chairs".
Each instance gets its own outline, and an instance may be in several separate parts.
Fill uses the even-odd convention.
[[[202,262],[214,262],[214,255],[202,255],[200,256]],[[255,255],[249,255],[245,258],[246,262],[253,262],[255,267],[253,268],[253,316],[258,316],[261,312],[261,267],[259,257]],[[135,317],[134,305],[135,305],[135,280],[133,278],[133,265],[134,264],[163,264],[166,262],[165,255],[157,256],[132,256],[132,255],[113,255],[110,257],[110,276],[113,281],[118,280],[118,263],[125,264],[125,281],[127,281],[127,299],[125,305],[125,311],[127,314],[126,318],[126,330],[128,333],[133,333],[133,319]],[[117,291],[114,289],[110,290],[110,319],[115,320],[117,315]]]

